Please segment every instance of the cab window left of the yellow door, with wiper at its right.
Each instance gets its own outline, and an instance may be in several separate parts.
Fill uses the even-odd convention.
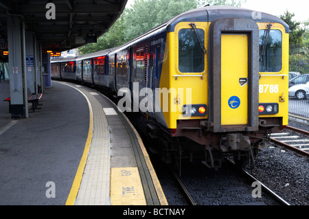
[[[201,29],[196,29],[198,36],[204,43],[205,34]],[[193,29],[179,30],[179,71],[181,73],[203,72],[205,53]]]

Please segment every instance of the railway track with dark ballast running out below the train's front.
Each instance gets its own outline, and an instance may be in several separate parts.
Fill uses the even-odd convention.
[[[229,164],[233,165],[231,162]],[[187,205],[290,205],[245,170],[239,172],[236,168],[227,168],[217,172],[215,178],[220,177],[220,181],[216,181],[216,185],[211,182],[200,186],[193,185],[190,181],[192,175],[188,178],[183,176],[180,178],[176,173],[172,175],[187,200]],[[196,177],[199,176],[194,178]],[[194,183],[203,183],[204,178],[205,176],[201,176]],[[253,197],[253,182],[260,185],[261,197]]]

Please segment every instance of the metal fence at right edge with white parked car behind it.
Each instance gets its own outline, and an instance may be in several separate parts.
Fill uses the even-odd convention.
[[[290,45],[289,62],[288,113],[309,118],[309,43]]]

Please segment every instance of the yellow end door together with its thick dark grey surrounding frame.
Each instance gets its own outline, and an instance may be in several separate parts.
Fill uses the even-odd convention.
[[[209,26],[209,121],[214,132],[258,130],[259,28],[252,19]]]

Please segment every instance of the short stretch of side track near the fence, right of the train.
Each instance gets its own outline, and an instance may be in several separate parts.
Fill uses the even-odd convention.
[[[271,134],[271,141],[287,150],[309,157],[309,132],[306,130],[286,126],[284,132]]]

